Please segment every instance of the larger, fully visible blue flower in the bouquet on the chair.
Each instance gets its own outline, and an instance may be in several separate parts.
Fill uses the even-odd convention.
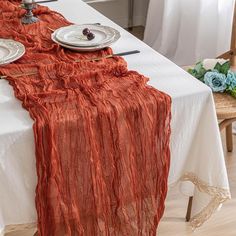
[[[227,88],[226,76],[216,71],[207,72],[204,75],[204,82],[213,92],[224,92]]]

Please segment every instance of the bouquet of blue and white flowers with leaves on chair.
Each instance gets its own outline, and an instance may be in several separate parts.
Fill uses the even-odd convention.
[[[213,92],[226,92],[236,98],[236,73],[230,70],[230,61],[205,59],[188,72],[208,85]]]

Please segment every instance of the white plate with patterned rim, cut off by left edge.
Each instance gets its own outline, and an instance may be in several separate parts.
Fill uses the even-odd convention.
[[[0,39],[0,65],[6,65],[21,58],[25,46],[12,39]]]

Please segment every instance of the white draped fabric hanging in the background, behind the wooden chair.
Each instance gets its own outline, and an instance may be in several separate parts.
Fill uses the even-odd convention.
[[[150,0],[144,41],[178,65],[229,50],[235,0]]]

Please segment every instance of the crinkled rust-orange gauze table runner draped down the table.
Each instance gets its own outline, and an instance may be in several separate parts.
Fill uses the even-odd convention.
[[[170,97],[120,57],[75,63],[112,51],[63,49],[47,26],[70,23],[38,7],[40,22],[21,25],[19,2],[0,0],[0,37],[20,41],[26,54],[0,73],[34,120],[39,235],[156,235],[170,164]],[[25,72],[36,74],[12,76]]]

